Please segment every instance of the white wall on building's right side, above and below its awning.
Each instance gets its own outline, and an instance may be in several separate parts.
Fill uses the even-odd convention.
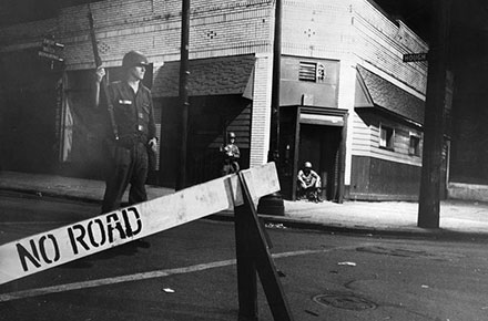
[[[404,63],[403,55],[427,52],[427,44],[403,22],[398,21],[398,25],[395,24],[366,0],[353,0],[352,23],[356,63],[425,101],[427,64],[426,62]],[[350,118],[349,124],[353,125],[350,155],[421,166],[421,157],[408,154],[410,132],[420,135],[419,131],[384,121],[396,130],[394,151],[387,151],[379,148],[378,122],[366,124],[355,112]]]

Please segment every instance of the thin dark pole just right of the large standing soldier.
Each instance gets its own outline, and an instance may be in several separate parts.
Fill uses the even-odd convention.
[[[186,187],[186,149],[189,141],[189,39],[190,39],[190,0],[182,0],[181,14],[181,54],[180,54],[180,106],[181,106],[181,142],[176,190]]]

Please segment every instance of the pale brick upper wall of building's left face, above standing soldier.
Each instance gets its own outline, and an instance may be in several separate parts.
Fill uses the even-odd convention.
[[[270,49],[271,0],[192,1],[191,58],[265,52]],[[125,52],[140,49],[152,61],[177,60],[181,1],[118,0],[91,4],[102,59],[120,64]],[[2,51],[39,46],[53,34],[65,44],[68,69],[92,65],[88,4],[60,9],[55,19],[0,29]]]

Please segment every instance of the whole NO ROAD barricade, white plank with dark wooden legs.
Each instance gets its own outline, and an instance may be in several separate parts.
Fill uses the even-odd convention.
[[[256,272],[275,320],[293,320],[255,204],[279,190],[268,163],[0,246],[0,284],[234,209],[240,320],[257,320]]]

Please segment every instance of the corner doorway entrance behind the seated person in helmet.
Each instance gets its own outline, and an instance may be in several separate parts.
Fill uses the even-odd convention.
[[[279,107],[279,184],[296,200],[296,177],[305,162],[322,178],[322,198],[344,198],[347,111],[316,106]]]

